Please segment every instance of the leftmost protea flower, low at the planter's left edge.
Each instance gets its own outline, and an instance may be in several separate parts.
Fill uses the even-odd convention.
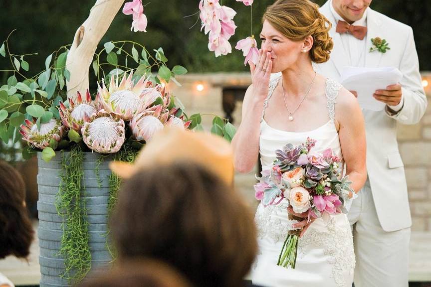
[[[40,129],[37,129],[35,122],[25,120],[25,123],[19,129],[24,141],[40,149],[48,146],[51,139],[58,143],[63,137],[64,131],[65,127],[61,125],[59,120],[55,119],[49,120],[48,123],[40,124]]]

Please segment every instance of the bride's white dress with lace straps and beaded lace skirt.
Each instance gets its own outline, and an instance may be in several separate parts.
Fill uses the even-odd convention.
[[[270,82],[264,109],[279,79]],[[334,106],[340,88],[337,82],[326,80],[329,121],[313,131],[294,133],[277,130],[268,126],[262,115],[259,149],[263,168],[272,164],[276,149],[281,149],[286,143],[299,145],[307,137],[317,141],[313,151],[321,152],[331,147],[337,156],[343,157],[334,122]],[[286,207],[287,200],[283,199],[278,205],[264,207],[259,204],[257,208],[255,222],[259,251],[251,269],[253,284],[268,287],[351,287],[355,254],[352,232],[345,214],[316,219],[299,240],[295,269],[277,266],[289,228]]]

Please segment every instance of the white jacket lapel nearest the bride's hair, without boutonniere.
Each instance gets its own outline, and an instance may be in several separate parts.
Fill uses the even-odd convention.
[[[338,70],[339,75],[341,75],[343,68],[350,66],[350,59],[344,51],[343,42],[341,41],[340,34],[335,31],[337,27],[337,21],[332,15],[331,8],[329,7],[330,2],[327,1],[321,8],[320,12],[325,15],[325,17],[332,23],[331,30],[329,30],[329,36],[334,42],[334,48],[331,51],[331,57],[329,58]]]

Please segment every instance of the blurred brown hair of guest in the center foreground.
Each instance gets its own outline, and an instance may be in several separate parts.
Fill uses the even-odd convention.
[[[195,286],[240,286],[257,243],[251,211],[232,187],[186,162],[124,181],[111,217],[120,258],[168,262]]]

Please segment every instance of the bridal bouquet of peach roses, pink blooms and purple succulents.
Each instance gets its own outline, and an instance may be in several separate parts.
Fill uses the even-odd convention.
[[[341,178],[340,158],[331,148],[312,152],[316,141],[286,144],[276,150],[272,168],[262,171],[254,185],[255,197],[264,206],[289,202],[292,223],[278,257],[277,265],[295,268],[298,240],[308,226],[325,214],[346,213],[345,202],[353,195],[348,176]],[[341,179],[340,179],[341,178]]]

